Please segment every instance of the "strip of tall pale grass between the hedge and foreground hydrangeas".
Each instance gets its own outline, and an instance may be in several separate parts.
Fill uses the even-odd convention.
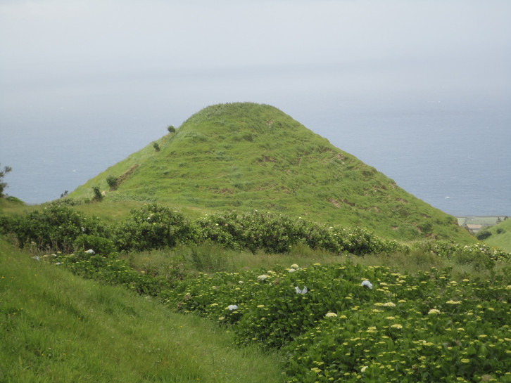
[[[253,254],[248,251],[238,252],[225,249],[211,242],[150,252],[131,252],[122,254],[121,258],[141,273],[164,276],[167,280],[193,278],[198,272],[239,273],[253,269],[269,270],[277,266],[291,264],[298,264],[301,267],[316,263],[322,265],[341,264],[346,259],[361,266],[386,266],[395,273],[414,274],[430,268],[450,268],[453,276],[457,278],[470,274],[474,277],[487,279],[491,278],[492,273],[499,273],[505,266],[509,266],[504,261],[498,261],[491,270],[486,270],[477,267],[475,263],[464,262],[458,257],[446,259],[419,249],[412,249],[406,254],[395,252],[391,255],[366,254],[360,257],[353,254],[339,255],[324,250],[310,249],[306,245],[298,244],[284,254],[271,254],[262,251]]]

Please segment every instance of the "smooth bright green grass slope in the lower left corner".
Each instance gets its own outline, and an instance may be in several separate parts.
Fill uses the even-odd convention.
[[[279,358],[0,239],[0,382],[278,382]]]

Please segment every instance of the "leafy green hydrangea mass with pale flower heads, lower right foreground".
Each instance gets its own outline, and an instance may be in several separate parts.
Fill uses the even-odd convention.
[[[282,349],[289,382],[511,382],[509,273],[291,269],[202,274],[165,301],[232,326],[239,344]]]

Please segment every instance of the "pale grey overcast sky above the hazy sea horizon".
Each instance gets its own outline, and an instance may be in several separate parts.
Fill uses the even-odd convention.
[[[0,81],[13,90],[372,68],[502,91],[510,47],[507,0],[0,0]]]

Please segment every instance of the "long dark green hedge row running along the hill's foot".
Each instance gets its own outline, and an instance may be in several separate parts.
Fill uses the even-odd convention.
[[[491,269],[495,261],[511,258],[503,250],[480,244],[461,246],[436,241],[419,242],[410,248],[395,240],[378,238],[366,228],[325,226],[268,212],[218,213],[187,221],[179,212],[155,203],[132,210],[129,218],[113,226],[106,226],[98,218],[84,216],[66,205],[49,205],[21,217],[0,216],[0,232],[13,233],[22,246],[30,244],[66,252],[88,246],[96,251],[107,246],[109,252],[131,252],[210,240],[228,248],[249,249],[254,253],[289,252],[298,244],[335,254],[356,255],[406,254],[415,249],[455,258],[460,264],[476,264],[480,269]]]

